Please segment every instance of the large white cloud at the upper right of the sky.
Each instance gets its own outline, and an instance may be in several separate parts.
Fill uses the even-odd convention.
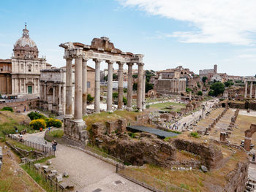
[[[118,0],[150,15],[189,22],[192,31],[163,34],[181,42],[255,45],[255,0]]]

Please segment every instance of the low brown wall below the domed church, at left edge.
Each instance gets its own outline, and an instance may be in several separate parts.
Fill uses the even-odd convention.
[[[12,107],[12,109],[15,112],[17,112],[17,111],[23,112],[24,107],[26,107],[26,110],[38,109],[39,99],[30,99],[27,101],[19,101],[19,102],[10,102],[10,103],[0,104],[0,109],[3,107]]]

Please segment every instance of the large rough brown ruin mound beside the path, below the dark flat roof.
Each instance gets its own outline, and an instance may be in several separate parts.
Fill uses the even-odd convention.
[[[102,136],[102,148],[110,155],[121,158],[133,165],[156,164],[168,166],[176,159],[176,149],[161,139],[141,137],[140,139],[119,139]]]

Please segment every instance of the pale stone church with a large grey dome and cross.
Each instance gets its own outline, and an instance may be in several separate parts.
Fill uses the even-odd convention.
[[[50,69],[45,57],[38,57],[36,43],[29,37],[29,30],[23,29],[23,36],[15,42],[12,54],[12,95],[39,95],[41,69]]]

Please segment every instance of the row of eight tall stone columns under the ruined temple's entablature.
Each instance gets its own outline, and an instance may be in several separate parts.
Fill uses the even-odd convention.
[[[83,55],[75,57],[75,120],[82,120],[82,115],[86,115],[87,100],[87,61]],[[94,112],[99,112],[100,100],[100,63],[102,60],[93,59],[95,62],[95,88],[94,88]],[[72,118],[72,58],[66,58],[66,118]],[[108,95],[107,111],[112,111],[113,101],[113,63],[108,63]],[[118,64],[118,110],[123,109],[123,66],[124,62]],[[132,110],[132,65],[128,65],[128,88],[127,88],[127,110]],[[143,77],[143,63],[138,63],[138,88],[137,88],[137,108],[143,110],[145,100],[146,77]]]

